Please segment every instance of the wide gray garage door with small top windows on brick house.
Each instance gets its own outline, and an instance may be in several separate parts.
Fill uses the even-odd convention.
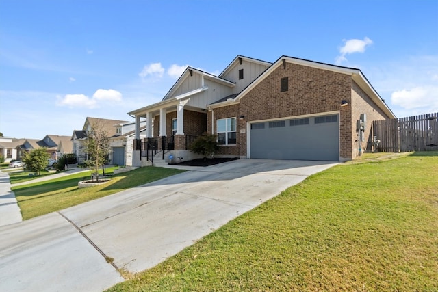
[[[339,160],[339,115],[250,124],[250,157]]]

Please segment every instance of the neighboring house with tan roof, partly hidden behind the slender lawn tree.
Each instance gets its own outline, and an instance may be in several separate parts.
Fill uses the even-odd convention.
[[[73,153],[77,157],[77,163],[83,163],[88,160],[88,153],[86,152],[86,142],[88,140],[88,133],[92,131],[92,127],[99,127],[101,131],[105,131],[108,137],[116,135],[118,127],[114,127],[119,124],[125,124],[125,120],[109,120],[103,118],[91,118],[87,117],[83,123],[82,130],[73,131],[73,135],[70,137],[73,146]]]

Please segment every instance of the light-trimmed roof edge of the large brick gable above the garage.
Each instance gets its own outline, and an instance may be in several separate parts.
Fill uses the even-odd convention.
[[[381,96],[378,95],[376,90],[372,87],[371,83],[366,79],[365,75],[361,72],[360,69],[357,68],[350,68],[350,67],[344,67],[344,66],[337,66],[332,64],[326,64],[322,62],[315,62],[310,61],[307,59],[300,59],[296,57],[289,57],[286,55],[283,55],[279,57],[279,59],[276,60],[268,69],[266,69],[259,77],[257,77],[252,83],[250,83],[240,94],[237,94],[234,98],[227,98],[224,99],[224,101],[217,101],[215,103],[212,103],[211,105],[215,105],[215,107],[220,107],[222,105],[229,105],[232,103],[236,103],[240,101],[240,98],[244,97],[250,90],[255,88],[256,85],[258,85],[263,79],[265,79],[268,75],[270,75],[276,68],[279,66],[282,66],[283,62],[289,62],[293,64],[298,64],[302,66],[308,66],[313,68],[318,68],[322,70],[329,70],[333,72],[339,72],[346,75],[351,75],[352,79],[361,87],[363,91],[365,91],[368,96],[380,107],[387,116],[391,118],[396,118],[394,113],[389,109],[385,101],[381,98]],[[211,106],[210,105],[210,106]]]

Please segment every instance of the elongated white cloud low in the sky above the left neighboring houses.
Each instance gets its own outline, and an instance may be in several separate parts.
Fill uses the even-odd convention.
[[[122,94],[117,90],[98,89],[90,98],[85,94],[66,94],[64,97],[57,96],[56,105],[60,107],[95,109],[101,105],[113,105],[114,102],[122,101]],[[112,103],[108,103],[112,102]]]

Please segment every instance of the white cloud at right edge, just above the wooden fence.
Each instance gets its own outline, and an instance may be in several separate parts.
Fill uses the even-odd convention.
[[[438,111],[438,86],[418,86],[391,94],[391,103],[404,109],[424,108],[425,112]]]

